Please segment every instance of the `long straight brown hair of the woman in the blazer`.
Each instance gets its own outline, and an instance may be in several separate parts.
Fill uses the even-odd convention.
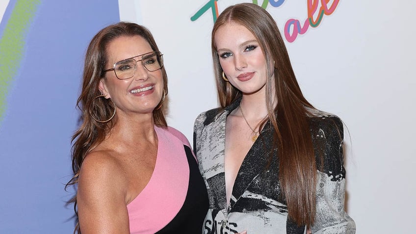
[[[211,50],[221,107],[226,107],[242,95],[230,82],[222,79],[223,70],[214,42],[217,29],[231,22],[250,30],[265,55],[268,77],[266,106],[268,120],[274,128],[273,142],[274,148],[278,149],[279,179],[286,198],[288,216],[298,225],[310,227],[316,209],[317,168],[308,116],[312,115],[309,109],[315,108],[302,94],[276,22],[266,10],[252,3],[229,6],[220,14],[212,29]],[[274,62],[274,68],[270,67],[270,61]]]

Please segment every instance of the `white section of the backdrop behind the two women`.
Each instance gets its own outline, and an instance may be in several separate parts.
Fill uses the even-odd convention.
[[[164,53],[168,124],[190,142],[196,116],[217,106],[210,54],[211,9],[190,20],[208,1],[119,0],[121,20],[147,26]],[[320,6],[324,0],[308,1]],[[298,19],[302,25],[307,20],[308,1],[274,0],[283,4],[269,4],[266,9],[283,33],[289,19]],[[243,1],[219,0],[218,11],[239,2]],[[411,0],[340,0],[319,26],[309,27],[292,43],[286,41],[306,98],[338,115],[349,130],[346,202],[358,234],[414,230],[414,9],[416,3]]]

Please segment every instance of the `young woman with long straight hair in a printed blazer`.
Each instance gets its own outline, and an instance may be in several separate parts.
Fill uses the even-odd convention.
[[[212,29],[220,108],[200,114],[205,233],[355,233],[344,211],[343,127],[302,95],[276,22],[228,7]]]

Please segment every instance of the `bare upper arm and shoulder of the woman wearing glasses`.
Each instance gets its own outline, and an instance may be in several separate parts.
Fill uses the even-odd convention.
[[[129,233],[126,175],[112,151],[94,151],[78,176],[78,219],[82,233]]]

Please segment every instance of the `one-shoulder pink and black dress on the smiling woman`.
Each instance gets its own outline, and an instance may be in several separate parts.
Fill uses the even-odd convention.
[[[127,205],[130,233],[201,233],[208,194],[189,142],[174,128],[155,130],[155,169],[143,191]]]

